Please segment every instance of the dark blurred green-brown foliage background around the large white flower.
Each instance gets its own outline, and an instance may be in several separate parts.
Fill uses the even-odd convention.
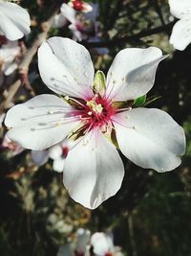
[[[39,9],[35,0],[21,1],[37,25],[26,38],[32,45],[40,23],[53,12],[56,1],[45,0]],[[90,1],[89,1],[90,2]],[[126,175],[121,189],[95,211],[69,198],[62,175],[53,172],[52,162],[37,168],[29,151],[16,156],[0,151],[0,254],[2,256],[53,256],[78,227],[92,232],[114,230],[115,242],[126,255],[190,256],[191,236],[191,46],[175,52],[168,42],[172,23],[165,0],[97,0],[101,39],[109,48],[96,56],[96,69],[106,74],[118,50],[124,47],[158,46],[170,57],[159,64],[154,88],[147,97],[159,96],[149,107],[169,112],[185,128],[187,150],[180,168],[157,174],[142,170],[121,155]],[[152,31],[156,29],[154,33]],[[137,36],[144,32],[144,36]],[[49,36],[72,36],[67,29],[52,29]],[[107,45],[108,42],[108,45]],[[83,43],[83,42],[82,42]],[[40,80],[37,59],[30,66],[36,94],[49,93]],[[15,103],[30,98],[23,88]],[[3,137],[5,129],[1,128]]]

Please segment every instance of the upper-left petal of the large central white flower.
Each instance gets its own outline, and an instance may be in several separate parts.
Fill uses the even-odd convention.
[[[38,50],[42,80],[54,92],[78,98],[92,96],[94,67],[89,52],[69,38],[52,37]]]

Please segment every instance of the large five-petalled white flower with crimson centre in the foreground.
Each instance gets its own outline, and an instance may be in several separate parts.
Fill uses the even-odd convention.
[[[94,209],[120,188],[124,168],[108,137],[138,166],[158,172],[180,165],[183,129],[156,108],[133,108],[153,86],[162,57],[156,47],[129,48],[114,59],[106,84],[89,52],[69,38],[52,37],[38,51],[42,80],[53,92],[12,107],[8,136],[22,147],[42,151],[64,138],[75,142],[65,161],[63,182],[75,201]],[[122,103],[121,103],[122,102]]]

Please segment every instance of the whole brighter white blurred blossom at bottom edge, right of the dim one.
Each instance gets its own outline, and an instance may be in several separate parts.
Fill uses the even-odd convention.
[[[93,252],[96,256],[122,256],[118,246],[114,245],[112,233],[96,232],[91,238]]]

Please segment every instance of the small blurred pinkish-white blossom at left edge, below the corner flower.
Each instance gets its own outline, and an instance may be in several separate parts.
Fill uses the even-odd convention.
[[[0,69],[6,76],[18,67],[18,64],[13,61],[20,54],[18,41],[8,41],[0,48]]]

